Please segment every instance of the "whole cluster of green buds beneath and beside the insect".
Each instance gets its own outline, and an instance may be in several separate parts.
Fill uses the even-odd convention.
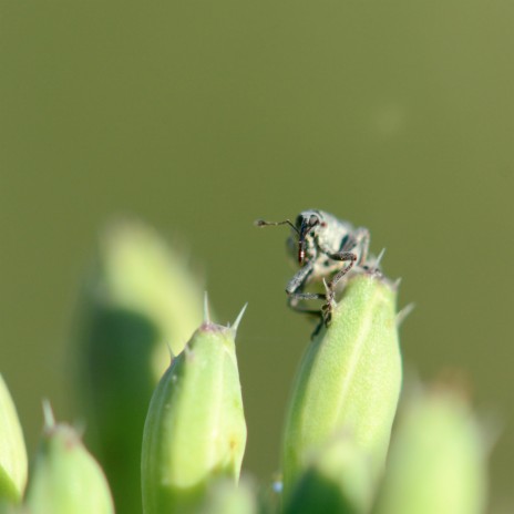
[[[389,448],[402,366],[397,286],[381,274],[349,278],[331,325],[310,341],[286,415],[282,480],[271,490],[239,476],[241,316],[223,327],[207,307],[202,313],[188,267],[146,227],[116,225],[102,241],[83,291],[80,377],[89,443],[119,513],[484,512],[483,436],[456,388],[411,395]],[[48,408],[23,497],[25,450],[0,386],[0,508],[112,512],[100,465]]]

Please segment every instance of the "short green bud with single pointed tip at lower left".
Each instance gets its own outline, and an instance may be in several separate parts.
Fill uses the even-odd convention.
[[[113,514],[102,469],[76,432],[55,424],[45,409],[43,438],[31,471],[25,504],[30,514]]]

